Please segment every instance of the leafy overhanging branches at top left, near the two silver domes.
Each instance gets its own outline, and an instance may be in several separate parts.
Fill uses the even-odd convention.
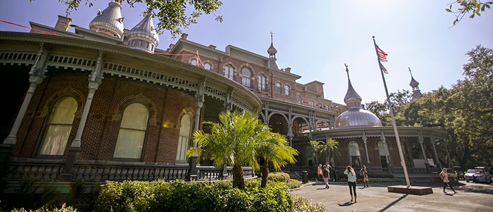
[[[33,1],[33,0],[29,0]],[[58,0],[67,5],[66,16],[70,16],[71,12],[79,8],[82,0]],[[85,0],[85,5],[92,7],[92,1]],[[132,8],[139,3],[145,3],[147,9],[143,14],[151,14],[157,18],[156,31],[163,34],[164,31],[170,31],[173,38],[177,34],[181,34],[181,27],[187,28],[192,23],[197,23],[197,18],[203,14],[214,14],[216,10],[223,5],[220,0],[114,0],[116,3],[123,2],[130,5]],[[192,9],[191,14],[186,14],[187,6]],[[214,14],[216,16],[216,14]],[[223,22],[223,16],[216,16],[216,21]]]

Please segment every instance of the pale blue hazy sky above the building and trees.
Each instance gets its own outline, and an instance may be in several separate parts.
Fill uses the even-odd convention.
[[[88,28],[98,9],[104,10],[109,0],[94,1],[92,8],[81,2],[71,18],[74,25]],[[493,10],[476,18],[466,17],[451,27],[455,16],[445,11],[451,2],[224,0],[215,12],[223,16],[223,23],[214,21],[214,15],[201,16],[197,24],[183,31],[188,40],[205,46],[213,44],[224,51],[231,44],[266,57],[272,31],[277,62],[302,76],[296,82],[321,81],[325,83],[325,98],[344,104],[347,64],[362,103],[383,102],[385,90],[372,36],[388,53],[383,66],[389,72],[385,75],[389,92],[411,90],[408,67],[423,93],[442,85],[451,88],[463,78],[468,51],[477,45],[493,49]],[[57,15],[65,15],[65,9],[56,0],[0,0],[0,20],[27,27],[29,21],[54,27]],[[125,28],[139,23],[144,10],[144,5],[123,5]],[[0,31],[29,29],[0,23]],[[175,42],[165,32],[157,48],[167,49]]]

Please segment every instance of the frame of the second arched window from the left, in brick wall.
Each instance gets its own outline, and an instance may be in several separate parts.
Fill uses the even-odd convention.
[[[122,129],[121,123],[123,121],[123,114],[125,113],[125,109],[127,109],[127,107],[129,107],[130,105],[132,105],[134,103],[139,103],[141,105],[144,105],[144,107],[146,107],[147,111],[149,112],[149,116],[147,117],[146,130],[145,130],[145,134],[144,134],[144,141],[142,142],[142,153],[140,153],[139,159],[114,157],[114,151],[116,150],[116,143],[118,142],[118,135],[120,135],[120,129]],[[149,135],[149,127],[151,125],[149,120],[151,120],[151,117],[152,117],[151,108],[149,107],[149,105],[147,105],[143,101],[131,101],[131,102],[127,103],[127,105],[125,105],[125,107],[123,107],[122,113],[121,113],[121,119],[118,122],[118,129],[116,130],[116,135],[114,137],[113,148],[112,148],[112,152],[111,152],[111,160],[112,161],[143,161],[144,160],[145,147],[147,144],[147,136]],[[127,129],[127,128],[124,128],[124,129]],[[142,131],[142,130],[138,130],[138,129],[131,129],[131,130]]]

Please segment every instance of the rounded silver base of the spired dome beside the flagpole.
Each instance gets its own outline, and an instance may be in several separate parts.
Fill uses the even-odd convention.
[[[336,118],[336,129],[349,127],[381,127],[381,122],[375,114],[366,109],[353,107]]]

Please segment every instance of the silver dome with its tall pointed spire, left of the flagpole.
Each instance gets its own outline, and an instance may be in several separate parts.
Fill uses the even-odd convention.
[[[336,129],[349,128],[349,127],[381,127],[381,122],[375,114],[362,109],[362,98],[354,90],[351,80],[349,79],[349,70],[346,66],[346,72],[348,72],[348,90],[346,96],[344,96],[344,103],[348,110],[336,118]]]

